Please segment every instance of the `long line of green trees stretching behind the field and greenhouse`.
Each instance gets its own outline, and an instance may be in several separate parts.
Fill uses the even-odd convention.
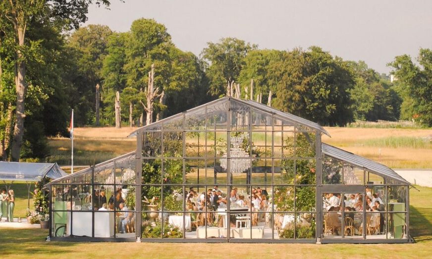
[[[0,159],[48,155],[46,137],[68,136],[72,108],[76,126],[142,126],[234,92],[322,125],[403,118],[432,126],[431,50],[420,50],[418,64],[395,57],[393,83],[317,46],[263,50],[223,38],[196,56],[153,19],[121,33],[80,28],[92,2],[109,5],[1,2]]]

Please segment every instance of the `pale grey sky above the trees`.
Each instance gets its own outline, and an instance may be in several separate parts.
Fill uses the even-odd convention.
[[[128,31],[154,18],[174,44],[197,55],[207,42],[236,37],[260,49],[317,45],[346,60],[364,60],[380,73],[396,55],[432,48],[432,1],[400,0],[111,0],[92,6],[86,24]]]

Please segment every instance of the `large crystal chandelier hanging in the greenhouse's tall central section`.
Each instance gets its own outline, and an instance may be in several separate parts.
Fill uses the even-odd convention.
[[[231,174],[242,173],[245,170],[249,169],[249,167],[251,167],[251,160],[247,159],[247,157],[249,157],[249,154],[246,153],[240,147],[245,137],[247,137],[247,135],[244,134],[241,134],[237,137],[231,137],[231,148],[229,149],[229,152],[231,154],[231,164],[230,164]],[[220,166],[225,170],[227,169],[226,157],[227,157],[226,154],[223,154],[222,158],[220,158]],[[235,157],[244,157],[244,158],[235,158]]]

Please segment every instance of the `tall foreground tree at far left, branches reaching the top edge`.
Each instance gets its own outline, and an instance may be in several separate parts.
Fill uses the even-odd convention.
[[[11,156],[14,161],[19,160],[24,134],[25,97],[28,89],[26,83],[27,63],[32,53],[37,50],[31,48],[32,46],[36,47],[37,42],[26,39],[26,33],[31,22],[43,19],[45,22],[61,23],[64,27],[77,27],[80,22],[87,19],[88,5],[92,2],[93,0],[70,2],[63,0],[16,0],[1,1],[0,3],[0,9],[4,17],[13,26],[14,38],[16,39],[16,55],[14,59],[16,67],[16,112],[11,148]],[[109,5],[108,0],[96,0],[94,2]]]

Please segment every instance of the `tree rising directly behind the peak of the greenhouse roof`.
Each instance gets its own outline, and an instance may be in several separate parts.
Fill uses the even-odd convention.
[[[210,79],[211,95],[220,97],[226,94],[226,86],[238,81],[246,55],[256,48],[256,45],[236,38],[207,43],[201,57],[207,64],[206,75]]]

